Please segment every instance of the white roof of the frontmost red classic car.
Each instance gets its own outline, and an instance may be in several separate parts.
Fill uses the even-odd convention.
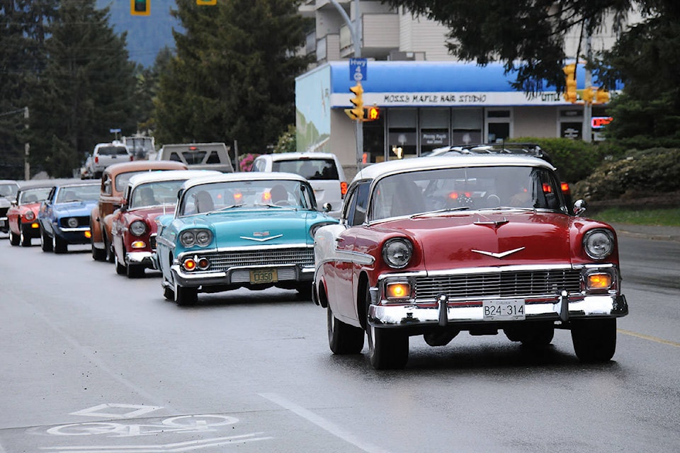
[[[353,180],[375,179],[390,173],[433,170],[436,168],[459,168],[469,166],[543,166],[555,169],[547,161],[533,156],[499,156],[475,154],[460,156],[416,157],[371,164],[359,171]]]

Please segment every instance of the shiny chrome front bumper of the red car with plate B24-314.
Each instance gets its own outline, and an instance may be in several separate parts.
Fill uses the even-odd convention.
[[[377,288],[371,288],[377,293]],[[368,323],[379,327],[448,326],[456,323],[487,323],[481,303],[474,306],[375,305],[368,307]],[[588,317],[621,317],[628,314],[628,303],[623,294],[599,294],[579,299],[556,297],[555,301],[526,303],[526,321],[569,321]],[[523,322],[523,321],[504,321]]]

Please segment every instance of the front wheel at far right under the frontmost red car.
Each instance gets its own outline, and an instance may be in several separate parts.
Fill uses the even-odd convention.
[[[582,362],[608,362],[616,351],[616,319],[571,321],[574,352]]]

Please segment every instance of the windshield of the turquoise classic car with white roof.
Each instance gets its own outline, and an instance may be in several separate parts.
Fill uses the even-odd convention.
[[[299,180],[238,180],[188,188],[179,215],[202,214],[235,207],[316,209],[312,188]]]

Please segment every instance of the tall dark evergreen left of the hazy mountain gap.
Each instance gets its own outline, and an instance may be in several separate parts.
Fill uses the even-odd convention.
[[[51,176],[71,176],[112,128],[136,132],[135,65],[125,33],[108,24],[95,0],[62,0],[47,28],[47,65],[31,111],[31,159]],[[35,143],[35,145],[33,144]]]

